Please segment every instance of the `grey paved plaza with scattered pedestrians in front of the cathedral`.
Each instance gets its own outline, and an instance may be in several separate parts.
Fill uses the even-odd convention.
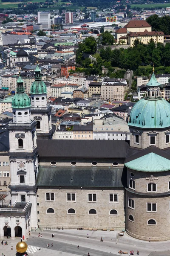
[[[42,233],[42,237],[38,237],[39,232]],[[55,234],[53,238],[52,233]],[[103,242],[100,241],[101,236]],[[4,256],[15,256],[15,247],[20,238],[7,241],[8,245],[0,243],[0,256],[2,253]],[[134,251],[134,255],[139,250],[140,256],[170,256],[169,241],[149,243],[130,238],[126,234],[119,236],[118,231],[45,229],[42,232],[32,231],[31,236],[25,241],[28,244],[28,256],[88,256],[88,252],[90,256],[117,256],[119,250],[128,252],[128,255],[130,250]],[[47,248],[47,244],[50,244],[50,247]],[[14,250],[11,250],[11,246]],[[39,248],[41,249],[38,250]]]

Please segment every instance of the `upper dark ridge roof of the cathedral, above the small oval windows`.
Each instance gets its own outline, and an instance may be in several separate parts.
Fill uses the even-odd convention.
[[[40,157],[125,158],[124,140],[37,140]]]

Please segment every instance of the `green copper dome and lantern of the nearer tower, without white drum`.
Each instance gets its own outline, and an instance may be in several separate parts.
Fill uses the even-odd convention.
[[[17,93],[12,99],[12,108],[30,108],[30,98],[24,93],[23,80],[19,76],[17,80]]]

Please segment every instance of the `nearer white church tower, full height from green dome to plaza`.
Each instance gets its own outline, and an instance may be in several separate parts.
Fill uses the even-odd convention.
[[[11,239],[17,236],[17,232],[25,239],[31,228],[37,227],[37,123],[31,120],[30,109],[31,102],[24,93],[23,80],[19,76],[17,93],[12,100],[13,120],[8,125],[12,207],[8,226]]]

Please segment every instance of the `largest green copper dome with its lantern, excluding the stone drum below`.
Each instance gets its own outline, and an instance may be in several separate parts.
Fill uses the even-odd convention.
[[[170,126],[170,104],[161,98],[159,86],[160,84],[153,73],[147,83],[147,96],[133,106],[128,125],[139,128],[166,128]]]

